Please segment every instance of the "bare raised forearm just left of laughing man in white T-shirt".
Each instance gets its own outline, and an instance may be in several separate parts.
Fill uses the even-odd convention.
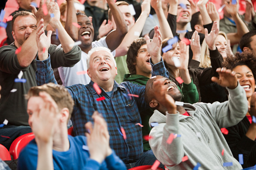
[[[67,31],[68,35],[74,40],[77,41],[78,39],[78,29],[72,23],[77,23],[76,18],[76,9],[74,6],[74,0],[67,2],[67,20],[65,23],[65,30]]]

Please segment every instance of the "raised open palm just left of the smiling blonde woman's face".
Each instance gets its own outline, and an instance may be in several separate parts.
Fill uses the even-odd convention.
[[[212,30],[209,34],[208,34],[207,28],[204,28],[205,42],[208,45],[210,50],[215,50],[216,49],[215,40],[216,40],[218,34],[219,34],[219,29],[217,27],[217,22],[216,21],[213,22]]]

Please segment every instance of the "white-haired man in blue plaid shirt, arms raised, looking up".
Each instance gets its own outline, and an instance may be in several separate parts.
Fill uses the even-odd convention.
[[[168,77],[161,58],[162,35],[158,26],[150,42],[146,37],[148,52],[151,56],[152,74]],[[37,84],[56,80],[51,70],[50,58],[37,60]],[[47,65],[48,64],[48,65]],[[154,65],[153,65],[154,64]],[[71,117],[74,134],[83,135],[87,130],[86,122],[92,122],[92,114],[98,110],[108,124],[109,144],[128,169],[135,166],[152,165],[156,157],[143,154],[140,110],[149,106],[145,103],[145,86],[114,81],[117,74],[116,63],[108,48],[96,47],[88,52],[87,73],[91,78],[88,85],[66,87],[75,101]]]

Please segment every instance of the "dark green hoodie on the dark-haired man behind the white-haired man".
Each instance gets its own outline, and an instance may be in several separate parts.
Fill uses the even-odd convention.
[[[146,85],[148,81],[148,77],[142,76],[142,75],[137,75],[137,74],[125,74],[124,75],[124,80],[123,81],[129,81],[132,83],[136,83],[138,85]],[[194,104],[198,102],[198,92],[196,90],[196,85],[194,85],[193,80],[191,78],[191,83],[187,84],[182,84],[182,87],[180,89],[179,86],[177,86],[180,90],[180,93],[182,94],[182,99],[181,101],[185,103],[190,103]],[[141,117],[141,124],[144,126],[142,127],[142,136],[146,136],[149,134],[151,128],[149,126],[149,118],[153,115],[154,110],[151,108],[148,108],[147,110],[144,110],[140,112],[140,117]],[[150,146],[148,141],[146,141],[143,138],[143,151],[148,151],[150,150]]]

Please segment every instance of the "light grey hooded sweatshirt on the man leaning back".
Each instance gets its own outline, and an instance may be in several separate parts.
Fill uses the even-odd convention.
[[[228,89],[228,88],[227,88]],[[149,124],[158,122],[150,131],[149,144],[156,158],[169,170],[193,169],[197,163],[199,170],[242,169],[232,156],[220,128],[236,125],[248,111],[244,89],[239,85],[228,89],[229,99],[223,103],[184,103],[188,115],[163,115],[158,110],[149,119]],[[180,134],[167,144],[170,134]],[[224,149],[224,155],[221,152]],[[182,162],[182,158],[188,160]],[[232,166],[223,163],[232,162]]]

